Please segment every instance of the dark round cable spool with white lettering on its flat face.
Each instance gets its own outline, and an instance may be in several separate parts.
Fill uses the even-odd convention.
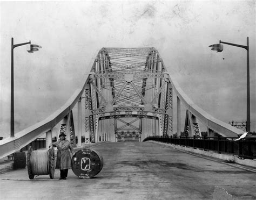
[[[78,178],[92,178],[103,168],[103,158],[93,149],[81,149],[71,159],[72,171]]]

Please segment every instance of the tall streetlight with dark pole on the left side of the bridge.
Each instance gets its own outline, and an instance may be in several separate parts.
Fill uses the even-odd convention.
[[[14,48],[22,45],[30,44],[29,53],[38,51],[42,48],[39,45],[31,45],[31,42],[25,42],[14,45],[14,38],[11,38],[11,137],[14,137]]]

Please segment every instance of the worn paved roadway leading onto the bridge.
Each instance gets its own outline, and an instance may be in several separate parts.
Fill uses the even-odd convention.
[[[256,173],[153,142],[105,142],[102,171],[67,180],[29,180],[27,169],[0,174],[0,199],[256,199]]]

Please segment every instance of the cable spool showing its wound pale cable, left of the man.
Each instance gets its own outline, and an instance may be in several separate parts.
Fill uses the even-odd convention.
[[[29,179],[33,179],[35,175],[50,175],[52,179],[55,173],[55,154],[54,149],[33,151],[29,147],[28,158],[28,174]]]

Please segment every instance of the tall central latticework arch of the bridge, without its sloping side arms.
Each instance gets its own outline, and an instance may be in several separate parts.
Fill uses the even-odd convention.
[[[103,138],[107,124],[115,134],[172,134],[172,85],[161,62],[155,48],[100,49],[85,89],[92,142]]]

